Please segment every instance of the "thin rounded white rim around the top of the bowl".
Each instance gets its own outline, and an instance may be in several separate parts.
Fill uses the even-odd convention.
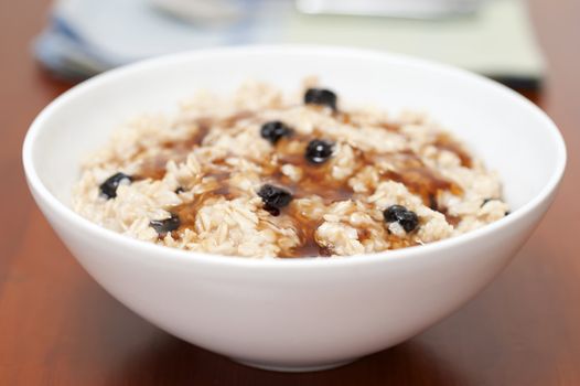
[[[198,58],[216,58],[230,57],[235,55],[246,54],[312,54],[312,55],[343,55],[357,57],[361,61],[368,60],[383,60],[390,62],[398,62],[405,65],[413,66],[419,69],[428,69],[430,72],[439,72],[445,75],[462,76],[470,82],[475,82],[480,86],[495,89],[497,93],[502,93],[505,96],[512,98],[518,103],[522,107],[526,108],[529,114],[535,115],[540,121],[543,127],[551,136],[554,143],[557,147],[557,164],[552,170],[548,183],[536,194],[531,200],[525,203],[522,207],[515,210],[509,216],[501,218],[494,223],[487,224],[481,228],[470,230],[465,234],[429,243],[426,245],[407,247],[396,250],[387,250],[373,254],[361,254],[337,258],[312,258],[312,257],[297,257],[297,258],[248,258],[240,256],[225,256],[214,255],[206,253],[195,253],[190,250],[183,250],[178,248],[171,248],[167,246],[148,243],[144,240],[135,239],[122,235],[120,233],[107,229],[97,225],[89,219],[84,218],[77,214],[68,205],[62,203],[56,199],[49,189],[43,184],[33,161],[33,150],[39,133],[43,130],[44,121],[47,120],[53,111],[56,111],[61,106],[65,105],[68,100],[76,98],[84,93],[89,93],[95,86],[101,83],[109,82],[115,78],[123,77],[126,74],[139,71],[148,71],[158,66],[168,65],[175,62],[183,61],[196,61]],[[66,90],[55,99],[53,99],[32,121],[26,136],[24,138],[22,147],[22,162],[24,167],[24,173],[29,182],[31,191],[39,195],[37,200],[42,200],[55,212],[60,217],[64,218],[69,226],[80,228],[87,233],[95,234],[96,237],[103,239],[109,239],[110,242],[121,244],[127,248],[135,248],[136,251],[142,251],[147,255],[154,256],[154,258],[162,258],[164,261],[190,261],[192,264],[208,264],[208,265],[226,265],[236,267],[262,267],[272,268],[279,267],[283,269],[288,268],[308,268],[308,267],[342,267],[352,265],[365,265],[374,264],[378,261],[395,261],[395,260],[410,260],[419,258],[423,255],[431,253],[438,253],[445,250],[450,247],[459,247],[461,245],[471,243],[471,240],[483,238],[494,232],[497,232],[504,227],[511,226],[512,224],[522,221],[531,211],[534,211],[540,203],[546,201],[557,189],[559,182],[562,179],[567,161],[567,151],[563,138],[554,124],[554,121],[544,112],[539,107],[534,105],[530,100],[519,95],[515,90],[498,84],[495,81],[486,78],[482,75],[474,74],[466,69],[462,69],[452,65],[442,64],[429,60],[417,58],[391,52],[380,52],[375,50],[366,49],[354,49],[347,46],[329,46],[329,45],[315,45],[315,44],[276,44],[276,45],[262,45],[262,44],[250,44],[239,45],[229,47],[214,47],[203,49],[197,51],[187,51],[170,55],[158,56],[139,61],[132,64],[123,65],[103,74],[96,75],[78,85],[75,85],[71,89]]]

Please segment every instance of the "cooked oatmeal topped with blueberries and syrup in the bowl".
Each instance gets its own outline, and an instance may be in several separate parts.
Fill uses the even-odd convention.
[[[497,175],[427,117],[260,83],[125,124],[83,164],[84,217],[160,245],[334,257],[432,243],[504,217]]]

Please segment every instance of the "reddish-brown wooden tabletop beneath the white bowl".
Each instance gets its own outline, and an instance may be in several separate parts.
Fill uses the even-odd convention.
[[[311,374],[248,368],[164,333],[108,296],[56,238],[20,161],[29,124],[68,87],[31,58],[47,9],[46,0],[0,0],[0,385],[580,385],[579,1],[531,2],[549,62],[546,87],[531,98],[569,150],[540,227],[454,315],[396,347]]]

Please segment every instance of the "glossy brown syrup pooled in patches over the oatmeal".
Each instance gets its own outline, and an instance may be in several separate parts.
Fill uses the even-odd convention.
[[[250,118],[251,112],[241,111],[218,124],[222,127],[232,127],[238,120]],[[336,112],[337,119],[343,122],[352,122],[350,115],[344,112]],[[202,118],[195,121],[198,125],[198,129],[195,133],[185,141],[174,141],[163,143],[163,150],[160,156],[152,160],[143,162],[139,178],[149,178],[153,180],[162,179],[165,174],[165,163],[169,159],[175,160],[176,162],[183,161],[187,153],[197,146],[202,146],[204,138],[214,126],[211,119]],[[394,124],[382,124],[383,128],[388,131],[399,131],[399,126]],[[300,136],[294,133],[291,138],[284,138],[280,140],[272,152],[272,158],[269,160],[255,160],[260,163],[265,174],[265,183],[272,183],[275,185],[284,187],[292,193],[294,199],[310,197],[318,195],[322,199],[325,205],[330,205],[334,202],[346,201],[356,199],[356,195],[347,184],[347,180],[335,181],[331,175],[332,162],[325,162],[323,164],[312,164],[304,157],[304,150],[309,141],[313,138],[323,138],[323,136],[314,132],[312,136]],[[440,149],[453,151],[461,159],[462,164],[471,167],[471,158],[463,151],[459,143],[454,142],[448,136],[441,135],[433,143]],[[359,172],[364,167],[375,164],[378,161],[388,161],[394,164],[396,170],[387,170],[382,172],[380,178],[383,181],[393,180],[404,183],[411,193],[421,196],[423,203],[433,210],[437,208],[437,197],[443,191],[450,191],[453,194],[462,194],[461,187],[457,184],[445,180],[439,173],[431,170],[423,164],[421,159],[412,151],[402,151],[397,153],[373,153],[362,152],[355,149],[356,153],[356,165],[354,173]],[[299,168],[302,172],[302,178],[299,182],[292,181],[289,176],[281,172],[281,167],[284,164],[291,164]],[[179,206],[174,206],[169,211],[180,217],[181,226],[173,233],[173,237],[179,237],[179,233],[185,228],[193,228],[195,225],[195,216],[198,210],[208,201],[217,197],[226,197],[233,200],[239,196],[240,192],[229,185],[229,171],[227,165],[222,163],[214,170],[208,169],[205,171],[205,179],[215,181],[215,187],[210,191],[196,195],[190,203],[184,203]],[[444,211],[442,212],[444,213]],[[459,219],[450,216],[447,213],[445,217],[450,223],[455,225]],[[301,245],[292,250],[283,253],[282,257],[316,257],[316,256],[331,256],[332,250],[320,246],[315,240],[315,230],[322,224],[322,218],[311,219],[299,213],[294,205],[290,204],[288,207],[282,208],[281,216],[288,216],[301,239]],[[358,229],[358,238],[364,242],[372,237],[368,229]],[[400,238],[393,234],[389,234],[388,242],[390,248],[404,248],[418,243],[413,237]]]

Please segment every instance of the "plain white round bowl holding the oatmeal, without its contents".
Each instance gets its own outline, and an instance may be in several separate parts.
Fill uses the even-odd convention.
[[[512,214],[460,237],[396,251],[256,260],[138,242],[71,210],[82,156],[105,143],[117,124],[170,110],[198,88],[227,93],[258,78],[290,90],[311,74],[344,100],[428,111],[500,172]],[[32,194],[56,233],[131,310],[239,362],[308,371],[397,344],[474,297],[545,214],[566,149],[531,103],[461,69],[351,49],[249,46],[154,58],[74,87],[34,120],[23,160]]]

